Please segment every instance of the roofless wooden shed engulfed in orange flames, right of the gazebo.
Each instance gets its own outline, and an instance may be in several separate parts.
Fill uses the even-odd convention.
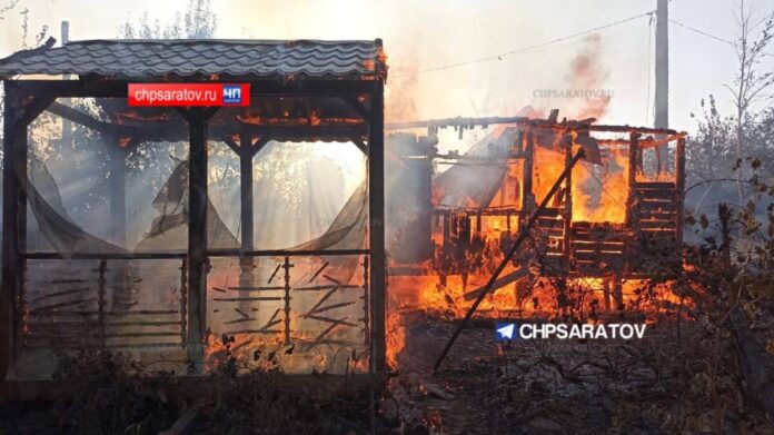
[[[487,126],[497,127],[468,152],[438,151],[440,129],[462,138]],[[395,184],[387,198],[390,279],[397,288],[419,287],[425,304],[464,313],[459,305],[476,298],[536,211],[529,243],[494,286],[514,285],[515,291],[500,291],[515,296],[510,307],[532,303],[537,280],[559,278],[583,280],[599,293],[594,304],[623,309],[627,281],[664,278],[681,266],[685,134],[558,121],[556,111],[549,119],[453,118],[387,128],[427,129],[423,137],[388,136]],[[538,210],[584,144],[599,150],[598,161],[572,167]],[[445,170],[434,172],[441,165]]]

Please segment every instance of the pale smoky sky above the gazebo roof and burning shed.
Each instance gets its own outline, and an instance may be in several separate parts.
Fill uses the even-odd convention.
[[[0,0],[2,4],[12,0]],[[546,90],[603,91],[609,103],[601,122],[653,125],[655,19],[638,17],[594,36],[570,38],[539,49],[500,56],[557,38],[644,14],[656,0],[212,0],[218,38],[375,39],[389,57],[388,121],[454,116],[508,116],[525,106],[560,116],[586,112],[586,100],[545,98]],[[755,17],[774,10],[774,0],[747,0]],[[70,39],[115,38],[118,27],[148,12],[169,22],[185,0],[19,0],[0,20],[0,56],[21,48],[21,11],[29,12],[28,45],[42,26],[59,38],[62,20]],[[728,0],[673,0],[669,18],[722,39],[737,29],[738,3]],[[770,50],[774,53],[774,47]],[[578,59],[591,59],[592,80],[578,80]],[[467,62],[457,68],[426,69]],[[774,68],[766,57],[762,70]],[[669,26],[669,125],[695,131],[691,112],[715,95],[731,113],[736,59],[733,47]]]

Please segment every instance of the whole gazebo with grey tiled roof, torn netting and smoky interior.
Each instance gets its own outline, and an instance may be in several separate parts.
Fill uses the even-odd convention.
[[[0,76],[3,379],[46,378],[79,346],[177,373],[228,347],[290,374],[384,376],[380,40],[50,41]],[[248,83],[251,103],[129,107],[130,82]],[[270,148],[280,160],[257,169]],[[343,149],[364,177],[327,214],[316,186],[335,171],[315,161],[300,198],[256,191],[271,168],[276,191],[296,182],[288,156]],[[298,216],[262,224],[291,200]]]

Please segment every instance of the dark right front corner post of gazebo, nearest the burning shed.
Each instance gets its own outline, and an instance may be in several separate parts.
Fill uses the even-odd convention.
[[[371,285],[371,370],[386,378],[384,83],[374,83],[368,122],[368,236]]]

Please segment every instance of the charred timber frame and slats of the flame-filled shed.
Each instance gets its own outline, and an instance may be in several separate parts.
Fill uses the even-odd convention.
[[[522,206],[519,207],[507,207],[507,208],[436,208],[433,211],[433,216],[438,216],[440,217],[444,223],[444,238],[446,238],[449,234],[448,231],[448,219],[449,216],[453,215],[466,215],[468,219],[480,219],[480,216],[498,216],[498,217],[506,217],[509,223],[509,217],[513,215],[516,215],[519,221],[519,227],[523,226],[523,224],[526,221],[526,219],[529,217],[530,212],[534,210],[536,207],[536,201],[540,200],[543,198],[535,198],[535,194],[533,191],[533,168],[535,165],[535,158],[534,158],[534,152],[535,152],[535,136],[536,132],[539,130],[543,131],[554,131],[557,136],[562,136],[562,141],[567,142],[569,139],[568,137],[575,132],[575,131],[589,131],[589,132],[601,132],[601,134],[619,134],[619,135],[627,135],[627,138],[619,138],[619,139],[597,139],[597,142],[601,146],[619,146],[619,147],[627,147],[628,149],[628,195],[627,195],[627,200],[626,200],[626,214],[625,214],[625,221],[622,226],[622,228],[616,229],[617,233],[621,233],[617,235],[618,237],[625,237],[628,239],[636,239],[637,237],[642,236],[643,234],[651,234],[653,235],[653,230],[655,229],[662,229],[665,230],[663,231],[664,235],[672,236],[673,243],[677,249],[679,250],[679,247],[683,244],[683,196],[684,196],[684,188],[685,188],[685,137],[687,134],[685,132],[678,132],[672,129],[661,129],[661,128],[647,128],[647,127],[629,127],[629,126],[608,126],[608,125],[594,125],[594,119],[589,120],[579,120],[579,121],[556,121],[555,119],[529,119],[525,117],[507,117],[507,118],[499,118],[499,117],[490,117],[490,118],[447,118],[447,119],[436,119],[436,120],[425,120],[425,121],[410,121],[410,122],[398,122],[398,123],[390,123],[387,125],[387,129],[391,130],[404,130],[404,129],[418,129],[418,128],[426,128],[427,129],[427,135],[433,136],[436,135],[439,129],[444,128],[455,128],[459,132],[462,132],[465,129],[473,129],[475,127],[484,127],[486,128],[487,126],[490,125],[508,125],[508,126],[516,126],[518,128],[518,132],[515,139],[514,146],[516,146],[516,149],[523,150],[522,156],[509,156],[508,159],[514,159],[514,160],[523,160],[524,161],[524,182],[522,184]],[[664,144],[676,144],[675,145],[675,150],[674,150],[674,160],[673,164],[674,166],[671,168],[671,175],[673,176],[673,181],[669,181],[672,186],[661,186],[661,185],[667,185],[667,182],[638,182],[637,181],[637,175],[638,170],[643,169],[643,150],[644,149],[656,149],[658,146],[664,145]],[[568,162],[572,159],[572,150],[569,147],[565,146],[565,164]],[[447,158],[446,156],[440,156],[440,155],[435,155],[435,156],[427,156],[430,159],[434,158]],[[659,156],[656,155],[656,158]],[[448,159],[448,158],[447,158]],[[466,161],[468,159],[467,156],[457,156],[458,161]],[[494,158],[492,159],[486,159],[486,158],[480,158],[482,160],[486,160],[489,162],[493,162]],[[502,161],[502,159],[500,159]],[[658,174],[666,171],[666,162],[663,162],[658,160],[657,165],[657,171]],[[648,186],[649,185],[649,186]],[[624,244],[624,249],[619,254],[621,261],[622,264],[619,266],[616,266],[611,269],[605,269],[605,270],[598,270],[594,271],[594,267],[586,267],[584,270],[579,270],[575,268],[575,263],[576,258],[574,258],[574,248],[573,246],[576,245],[576,237],[577,235],[575,234],[577,230],[585,230],[585,228],[575,228],[573,226],[573,220],[572,220],[572,170],[567,175],[566,182],[564,185],[565,188],[565,201],[564,205],[562,206],[560,209],[556,210],[559,215],[563,216],[563,238],[562,238],[562,263],[560,266],[555,270],[555,273],[564,274],[566,276],[573,276],[573,275],[580,275],[580,276],[596,276],[596,277],[602,277],[602,278],[615,278],[613,281],[621,281],[622,278],[635,278],[635,277],[644,277],[642,270],[637,270],[636,267],[632,266],[626,261],[626,258],[631,254],[633,254],[636,248],[636,243],[634,240],[629,240]],[[641,218],[644,211],[639,210],[638,205],[641,201],[648,200],[651,198],[644,197],[647,195],[655,195],[656,197],[668,197],[669,200],[669,207],[668,208],[674,208],[674,210],[669,209],[668,211],[665,210],[657,210],[654,215],[661,215],[661,216],[669,216],[668,218],[664,217],[662,220],[655,225],[653,221],[649,223],[641,223]],[[649,216],[648,216],[649,217]],[[601,223],[604,224],[604,223]],[[656,228],[657,226],[657,228]],[[478,227],[478,226],[477,226]],[[538,224],[537,227],[540,227]],[[648,233],[651,231],[651,233]],[[586,240],[580,240],[583,244],[587,246],[601,246],[602,244],[597,243],[592,243],[592,241],[586,241]],[[611,240],[614,243],[614,240]],[[663,241],[663,240],[662,240]],[[627,255],[628,250],[628,255]],[[583,253],[584,255],[586,254],[585,251]],[[613,270],[615,269],[615,270]],[[591,273],[591,274],[589,274]],[[440,271],[441,274],[441,283],[444,280],[444,271]],[[614,276],[613,276],[614,275]],[[615,293],[618,293],[619,288],[615,289]],[[616,295],[617,299],[621,299],[619,295]],[[619,300],[618,300],[619,301]],[[621,304],[619,304],[621,305]]]

